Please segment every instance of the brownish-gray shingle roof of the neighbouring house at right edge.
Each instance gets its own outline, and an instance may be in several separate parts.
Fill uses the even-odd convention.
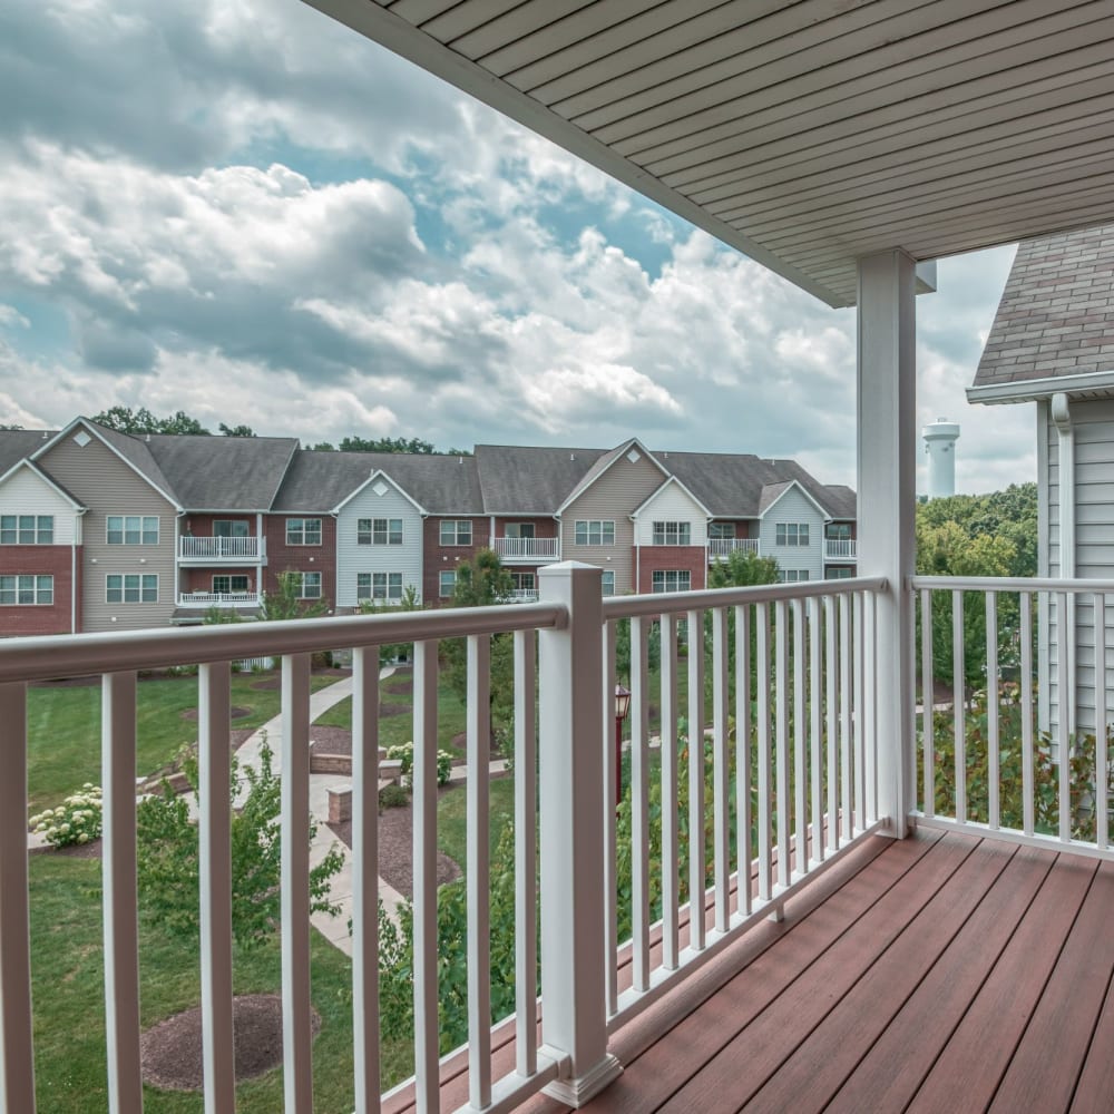
[[[975,387],[1114,371],[1114,225],[1020,244]]]

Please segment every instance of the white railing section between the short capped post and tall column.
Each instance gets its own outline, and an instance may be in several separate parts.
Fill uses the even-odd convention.
[[[616,624],[627,620],[632,692],[629,785],[616,792],[614,760],[604,774],[605,892],[629,902],[607,910],[612,1027],[755,918],[778,915],[817,870],[881,827],[879,697],[868,671],[883,587],[853,579],[604,602],[604,691],[614,691]],[[653,691],[652,642],[661,659]],[[661,709],[656,735],[652,703]],[[608,713],[609,698],[605,740]],[[627,802],[619,814],[629,824],[629,880],[615,877],[617,797]],[[652,832],[658,812],[661,831]]]

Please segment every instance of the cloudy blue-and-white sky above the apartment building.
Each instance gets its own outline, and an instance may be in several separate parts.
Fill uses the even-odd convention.
[[[853,310],[299,0],[0,0],[0,421],[637,436],[854,485]],[[959,491],[1036,477],[1032,404],[964,394],[1013,253],[918,299]]]

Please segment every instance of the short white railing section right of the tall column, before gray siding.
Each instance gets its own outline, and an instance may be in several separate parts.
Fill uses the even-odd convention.
[[[1114,858],[1114,580],[911,586],[917,822]]]

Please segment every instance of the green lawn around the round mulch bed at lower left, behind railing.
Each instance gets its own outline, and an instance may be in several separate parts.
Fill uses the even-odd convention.
[[[38,1107],[52,1114],[107,1110],[100,863],[35,856],[31,878],[31,966]],[[140,924],[140,1024],[144,1028],[201,1000],[196,944]],[[352,1014],[349,959],[313,934],[313,1005],[322,1018],[313,1046],[315,1105],[351,1111]],[[237,994],[277,993],[278,941],[235,955]],[[413,1071],[408,1044],[383,1048],[384,1079]],[[282,1068],[237,1088],[240,1114],[282,1110]],[[149,1114],[199,1114],[199,1094],[145,1088]]]

